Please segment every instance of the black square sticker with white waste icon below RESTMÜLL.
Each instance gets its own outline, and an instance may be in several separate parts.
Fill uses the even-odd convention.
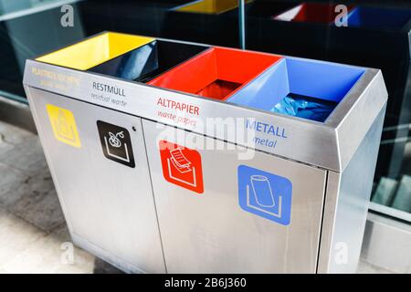
[[[101,120],[97,121],[97,128],[104,156],[113,162],[135,167],[129,131]]]

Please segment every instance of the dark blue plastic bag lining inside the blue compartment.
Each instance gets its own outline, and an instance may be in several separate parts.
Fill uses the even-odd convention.
[[[328,100],[313,99],[291,93],[281,99],[271,111],[308,120],[324,121],[332,113],[335,106],[336,103]]]

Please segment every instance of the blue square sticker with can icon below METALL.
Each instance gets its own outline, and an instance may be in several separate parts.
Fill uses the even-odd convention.
[[[285,177],[247,165],[238,166],[238,202],[252,214],[290,224],[292,184]]]

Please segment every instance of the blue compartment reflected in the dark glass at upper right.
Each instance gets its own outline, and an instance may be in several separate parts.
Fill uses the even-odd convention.
[[[359,6],[348,16],[348,26],[401,29],[411,20],[411,10]]]

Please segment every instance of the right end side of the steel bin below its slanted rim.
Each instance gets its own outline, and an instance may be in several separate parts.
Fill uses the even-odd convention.
[[[340,174],[329,172],[319,273],[355,273],[360,258],[385,107]]]

